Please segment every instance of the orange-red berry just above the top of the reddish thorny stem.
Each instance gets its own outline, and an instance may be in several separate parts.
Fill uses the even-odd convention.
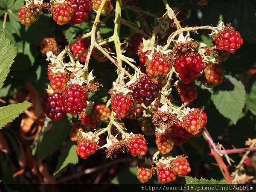
[[[192,135],[197,135],[204,127],[204,121],[198,113],[189,113],[183,120],[183,128]]]

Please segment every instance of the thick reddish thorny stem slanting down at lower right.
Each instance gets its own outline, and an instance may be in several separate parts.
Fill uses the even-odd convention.
[[[207,142],[209,144],[209,147],[211,149],[211,155],[217,161],[218,166],[221,169],[222,175],[224,176],[225,180],[227,181],[227,183],[232,184],[232,180],[231,180],[230,174],[228,172],[228,167],[224,163],[224,161],[221,157],[221,152],[218,150],[217,145],[212,140],[212,137],[210,136],[210,134],[209,134],[209,132],[207,131],[206,128],[204,128],[203,137],[204,137],[205,140],[207,140]]]

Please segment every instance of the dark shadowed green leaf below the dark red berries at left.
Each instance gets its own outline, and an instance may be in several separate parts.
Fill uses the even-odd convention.
[[[49,128],[50,130],[46,131]],[[41,135],[38,145],[32,149],[32,154],[37,155],[38,159],[48,157],[67,139],[69,133],[70,123],[67,118],[58,122],[49,122],[48,126],[44,127],[44,133]]]

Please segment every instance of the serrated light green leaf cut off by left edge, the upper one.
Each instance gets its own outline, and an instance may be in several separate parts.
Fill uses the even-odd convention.
[[[17,54],[17,49],[11,44],[9,38],[3,31],[0,31],[0,88],[10,71],[13,59]]]

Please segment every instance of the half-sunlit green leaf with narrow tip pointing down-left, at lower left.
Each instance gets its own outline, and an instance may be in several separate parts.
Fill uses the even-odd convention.
[[[68,140],[67,144],[62,148],[61,155],[58,157],[58,164],[56,166],[53,176],[59,177],[63,172],[67,170],[69,164],[75,165],[78,163],[78,157],[76,154],[76,143]]]

